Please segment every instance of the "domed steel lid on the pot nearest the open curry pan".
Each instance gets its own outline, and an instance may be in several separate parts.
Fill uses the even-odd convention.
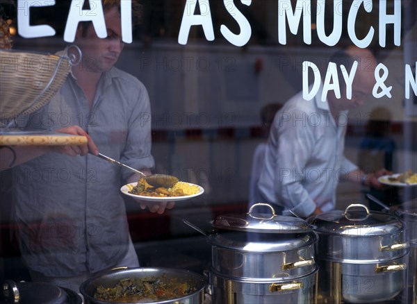
[[[269,208],[270,213],[256,213],[262,206]],[[266,203],[252,205],[247,213],[221,215],[213,221],[213,228],[250,233],[308,233],[312,230],[303,219],[277,215]]]

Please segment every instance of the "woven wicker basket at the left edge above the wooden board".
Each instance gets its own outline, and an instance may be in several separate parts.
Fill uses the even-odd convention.
[[[0,50],[0,120],[42,108],[63,85],[71,65],[67,56]]]

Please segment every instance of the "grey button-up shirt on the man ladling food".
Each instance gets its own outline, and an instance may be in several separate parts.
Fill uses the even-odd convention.
[[[99,151],[134,168],[154,167],[145,86],[113,67],[99,81],[90,111],[72,75],[30,128],[79,125]],[[131,173],[94,155],[48,153],[14,170],[15,219],[22,256],[45,276],[94,273],[120,262],[129,230],[120,187]]]

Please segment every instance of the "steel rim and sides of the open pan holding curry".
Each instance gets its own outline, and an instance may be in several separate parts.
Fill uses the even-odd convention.
[[[167,301],[146,301],[142,303],[164,303],[164,304],[201,304],[204,303],[204,287],[206,281],[203,276],[192,271],[182,269],[169,268],[131,268],[131,269],[115,269],[101,273],[93,278],[83,282],[80,287],[80,292],[84,296],[85,304],[108,304],[108,301],[99,301],[94,298],[95,291],[100,285],[103,287],[113,287],[119,280],[125,278],[150,278],[156,277],[164,279],[177,278],[179,281],[186,282],[190,287],[195,289],[195,292],[181,298],[174,298]],[[116,302],[114,302],[116,303]],[[141,302],[137,302],[141,303]]]

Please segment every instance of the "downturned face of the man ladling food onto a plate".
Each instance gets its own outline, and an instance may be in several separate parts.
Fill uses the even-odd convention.
[[[123,50],[120,12],[111,8],[104,12],[107,28],[107,37],[97,37],[92,25],[83,33],[80,27],[76,32],[76,45],[83,52],[83,68],[98,73],[108,71],[115,65]]]

